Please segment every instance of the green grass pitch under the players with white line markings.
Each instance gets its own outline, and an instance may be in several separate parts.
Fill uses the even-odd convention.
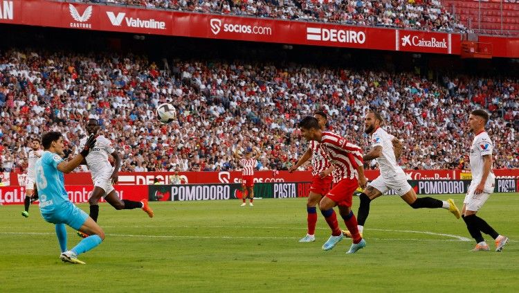
[[[461,208],[464,196],[450,197]],[[60,261],[54,227],[37,206],[27,219],[23,206],[0,206],[0,292],[519,291],[517,193],[493,194],[478,213],[511,239],[501,253],[470,251],[462,220],[444,209],[413,210],[395,196],[372,202],[367,247],[353,255],[345,254],[349,239],[322,251],[329,228],[320,214],[316,242],[298,242],[306,199],[240,203],[152,202],[153,219],[103,203],[107,238],[80,256],[86,265]],[[71,248],[80,238],[67,229]]]

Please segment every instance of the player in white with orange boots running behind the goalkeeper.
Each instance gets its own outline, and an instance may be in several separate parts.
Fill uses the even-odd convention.
[[[86,124],[86,132],[96,135],[99,130],[99,123],[95,119],[89,119]],[[86,137],[80,141],[80,150],[83,148],[86,142]],[[134,209],[142,208],[149,217],[153,217],[153,211],[148,206],[147,199],[141,199],[140,202],[134,202],[128,199],[120,199],[113,188],[112,184],[116,184],[118,181],[118,172],[120,168],[120,155],[119,152],[114,149],[109,141],[104,136],[100,135],[95,138],[97,142],[94,148],[86,156],[82,163],[86,163],[89,167],[92,181],[93,191],[89,197],[90,204],[90,217],[97,222],[99,215],[99,199],[104,199],[111,204],[116,210],[122,209]],[[112,167],[108,161],[108,156],[111,155],[115,161],[115,166]],[[78,233],[80,236],[85,237],[86,235]]]

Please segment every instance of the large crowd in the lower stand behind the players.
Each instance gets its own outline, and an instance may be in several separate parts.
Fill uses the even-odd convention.
[[[123,171],[237,170],[236,148],[259,150],[258,170],[286,170],[307,146],[297,123],[316,110],[329,128],[370,149],[363,116],[377,109],[404,144],[404,168],[465,168],[467,113],[491,112],[494,167],[519,168],[517,78],[355,71],[260,62],[151,62],[140,55],[0,52],[0,166],[24,171],[29,142],[65,136],[70,157],[89,117],[122,154]],[[177,120],[154,111],[172,103]],[[367,168],[376,168],[370,163]]]

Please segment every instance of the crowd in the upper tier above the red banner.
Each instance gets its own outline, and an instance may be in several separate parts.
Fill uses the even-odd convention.
[[[246,15],[361,26],[385,26],[445,32],[467,29],[438,0],[75,0],[165,8],[172,10]]]

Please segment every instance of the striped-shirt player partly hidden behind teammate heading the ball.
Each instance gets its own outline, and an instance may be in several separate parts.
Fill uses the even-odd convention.
[[[327,123],[325,112],[319,111],[313,116],[319,121],[319,126],[321,130],[324,131]],[[312,185],[307,199],[308,231],[307,236],[304,236],[299,242],[316,241],[316,237],[314,236],[317,223],[316,206],[322,197],[328,193],[331,188],[331,181],[334,179],[334,177],[331,176],[331,171],[334,170],[334,167],[331,166],[325,150],[320,147],[320,143],[317,141],[309,141],[309,148],[304,152],[298,163],[289,169],[289,172],[298,170],[298,168],[310,158],[312,164]]]

